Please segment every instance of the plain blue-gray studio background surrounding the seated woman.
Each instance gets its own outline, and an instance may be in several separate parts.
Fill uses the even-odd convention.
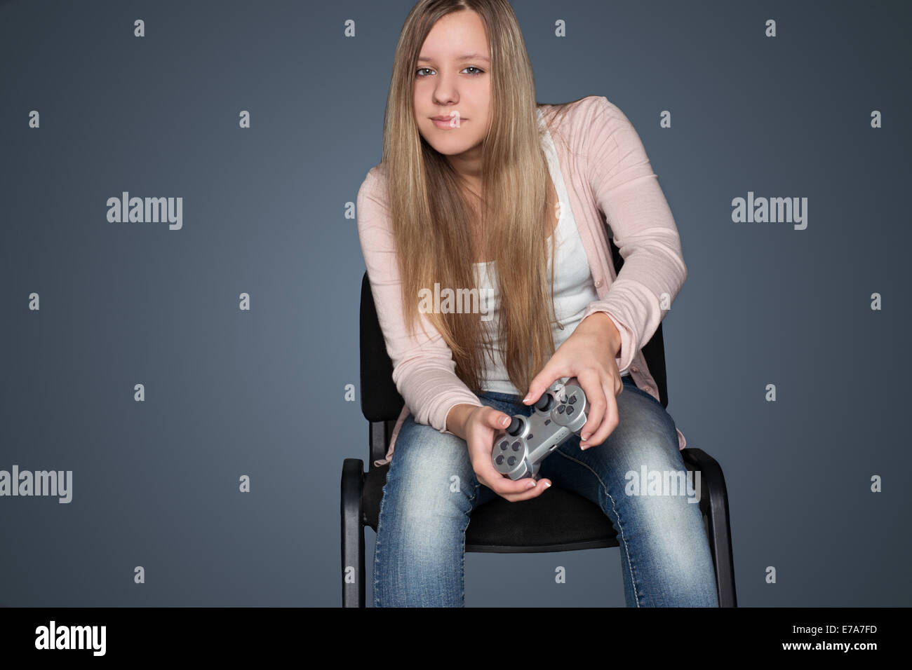
[[[345,211],[411,5],[0,4],[0,469],[73,470],[69,504],[0,498],[0,604],[341,602],[368,459]],[[908,6],[513,3],[538,99],[614,102],[675,215],[668,411],[724,470],[742,606],[912,603]],[[121,191],[181,196],[182,229],[108,222]],[[731,222],[748,191],[806,197],[806,230]],[[617,548],[465,577],[470,606],[624,604]]]

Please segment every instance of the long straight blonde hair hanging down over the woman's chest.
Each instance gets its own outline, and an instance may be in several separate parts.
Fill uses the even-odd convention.
[[[412,7],[396,46],[380,170],[387,182],[403,309],[413,334],[421,289],[434,283],[454,292],[476,287],[473,208],[449,161],[421,138],[413,108],[425,38],[441,16],[466,9],[481,17],[491,57],[491,126],[482,150],[482,249],[484,258],[494,261],[501,294],[498,336],[507,373],[524,393],[554,354],[554,246],[549,281],[547,237],[555,213],[547,203],[550,175],[541,145],[544,129],[535,113],[540,105],[532,65],[507,0],[420,0]],[[545,123],[552,126],[556,112],[571,104],[550,106],[555,113]],[[499,197],[491,198],[491,193]],[[426,316],[450,346],[456,375],[480,393],[483,355],[493,358],[479,314],[431,311]]]

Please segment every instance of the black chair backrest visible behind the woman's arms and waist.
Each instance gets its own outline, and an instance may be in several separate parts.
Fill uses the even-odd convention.
[[[611,256],[615,272],[620,273],[624,259],[617,251],[610,237]],[[361,279],[361,412],[371,423],[371,464],[382,459],[389,444],[391,424],[399,417],[405,401],[393,384],[393,365],[387,354],[387,345],[377,318],[374,296],[370,291],[368,273]],[[665,376],[665,343],[662,339],[662,325],[643,347],[643,357],[649,372],[656,380],[658,397],[663,407],[668,408],[668,384]],[[382,439],[379,437],[382,436]]]

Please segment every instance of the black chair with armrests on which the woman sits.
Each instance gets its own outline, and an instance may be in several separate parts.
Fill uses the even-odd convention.
[[[610,240],[615,269],[624,261]],[[380,499],[389,463],[383,459],[396,419],[404,405],[392,380],[392,362],[377,318],[368,274],[361,281],[361,411],[369,422],[368,471],[361,459],[345,459],[342,465],[342,606],[365,606],[364,526],[377,531]],[[655,377],[663,407],[668,407],[665,346],[662,326],[643,356]],[[731,554],[729,500],[719,463],[699,448],[685,448],[681,456],[688,470],[700,470],[700,511],[710,540],[716,588],[721,607],[737,606]],[[395,455],[393,458],[396,458]],[[472,510],[465,534],[465,551],[523,553],[574,551],[617,547],[617,531],[605,513],[590,500],[554,485],[543,496],[519,502],[501,497]]]

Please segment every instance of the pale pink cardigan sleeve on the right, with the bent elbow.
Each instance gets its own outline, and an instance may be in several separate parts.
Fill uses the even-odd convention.
[[[580,149],[586,179],[624,264],[604,299],[589,304],[583,318],[594,312],[611,317],[621,340],[617,369],[624,374],[668,314],[688,271],[678,228],[637,131],[604,96],[586,100]]]

